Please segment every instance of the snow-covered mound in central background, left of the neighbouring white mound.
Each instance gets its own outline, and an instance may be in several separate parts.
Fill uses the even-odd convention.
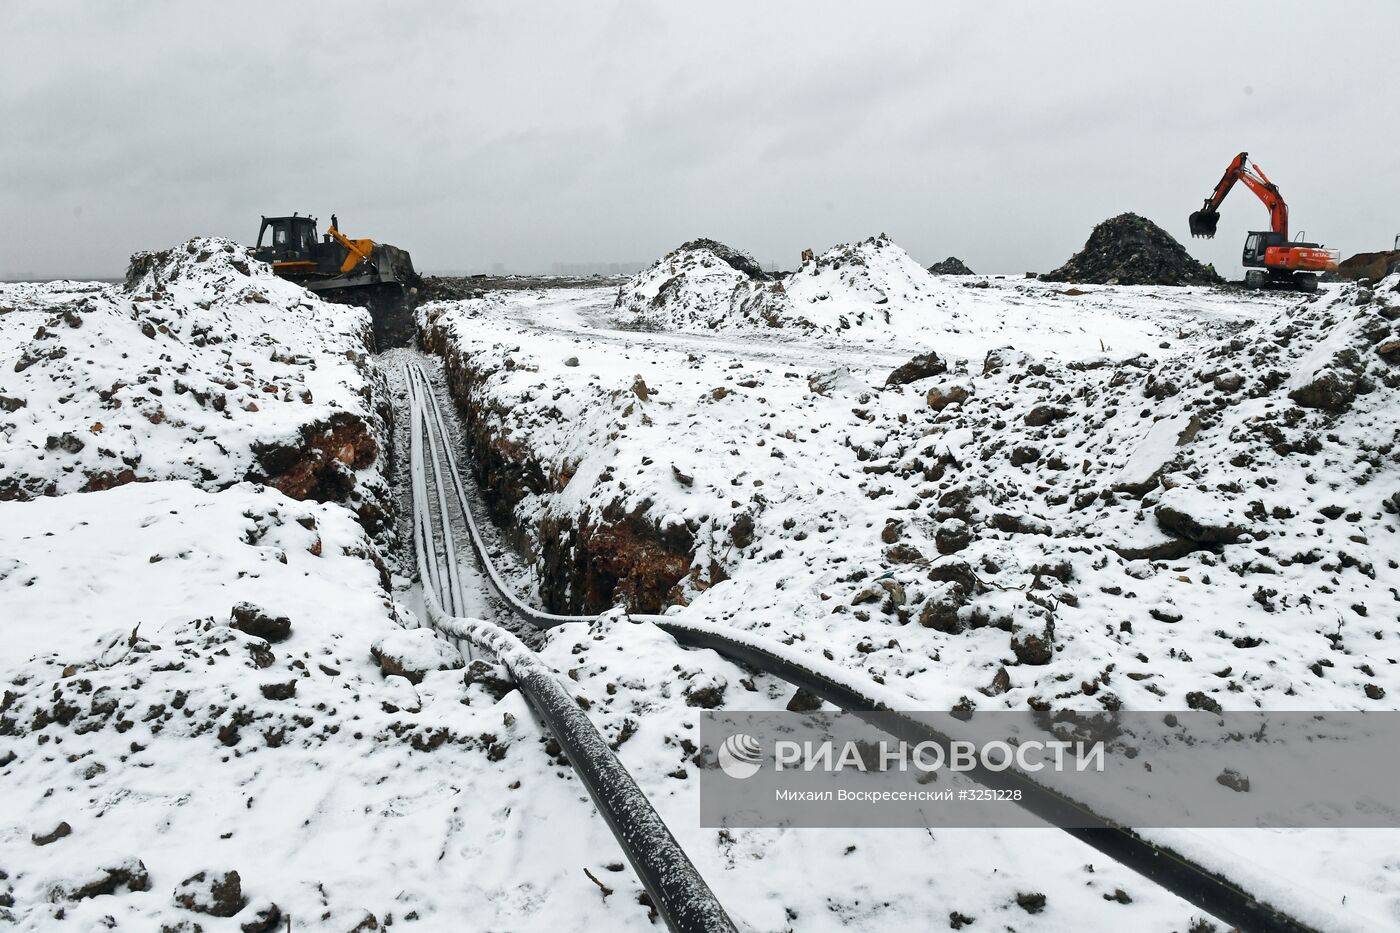
[[[629,279],[617,319],[633,328],[729,329],[783,326],[787,303],[748,254],[693,240]]]

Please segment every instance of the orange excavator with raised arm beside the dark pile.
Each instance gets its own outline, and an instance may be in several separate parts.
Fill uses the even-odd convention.
[[[1268,207],[1268,230],[1252,230],[1245,238],[1245,286],[1249,289],[1298,289],[1316,291],[1317,277],[1324,272],[1336,272],[1341,254],[1317,242],[1292,241],[1288,238],[1288,205],[1278,192],[1278,185],[1268,181],[1249,153],[1240,153],[1221,177],[1215,191],[1205,205],[1191,214],[1193,237],[1214,237],[1219,223],[1219,206],[1235,182],[1245,182],[1264,206]]]

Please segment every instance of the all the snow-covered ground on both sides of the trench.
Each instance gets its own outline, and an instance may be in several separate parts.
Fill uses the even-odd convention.
[[[806,324],[637,321],[612,289],[424,317],[547,468],[525,537],[638,516],[693,542],[696,618],[930,709],[1393,709],[1394,280],[1299,305],[925,282],[895,251],[759,286]],[[654,929],[519,693],[391,586],[365,324],[221,241],[129,289],[0,289],[0,926],[277,929],[276,904],[295,930]],[[1198,915],[1049,829],[700,829],[696,703],[792,688],[624,618],[539,644],[741,929]],[[1170,841],[1323,929],[1400,922],[1397,834]]]

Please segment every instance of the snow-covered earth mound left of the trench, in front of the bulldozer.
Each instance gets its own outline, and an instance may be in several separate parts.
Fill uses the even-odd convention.
[[[378,527],[368,325],[216,238],[137,254],[125,286],[0,286],[0,500],[256,479]]]

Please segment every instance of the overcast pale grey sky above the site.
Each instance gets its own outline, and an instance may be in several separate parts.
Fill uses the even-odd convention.
[[[1400,234],[1400,4],[0,0],[0,279],[337,212],[427,270],[791,268],[881,231],[1046,270],[1133,210],[1239,272],[1247,148],[1295,231]]]

